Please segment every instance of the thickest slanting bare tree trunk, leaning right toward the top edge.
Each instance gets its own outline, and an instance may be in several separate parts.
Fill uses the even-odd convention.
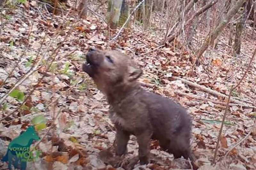
[[[228,24],[230,19],[236,14],[240,7],[243,6],[246,0],[238,0],[235,4],[230,8],[228,14],[225,18],[223,18],[218,26],[212,31],[210,35],[208,35],[201,46],[201,48],[197,52],[197,61],[201,58],[204,51],[208,48],[209,44],[212,44],[213,41],[218,37],[224,27]]]

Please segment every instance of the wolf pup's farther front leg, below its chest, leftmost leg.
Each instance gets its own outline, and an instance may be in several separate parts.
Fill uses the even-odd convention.
[[[129,138],[130,134],[128,132],[116,126],[116,155],[121,156],[125,154]]]

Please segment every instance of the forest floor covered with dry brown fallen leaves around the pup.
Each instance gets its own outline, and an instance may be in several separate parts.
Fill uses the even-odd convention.
[[[252,37],[252,27],[245,26],[238,57],[232,55],[226,36],[228,32],[224,31],[219,36],[217,49],[208,48],[203,63],[195,66],[191,60],[196,56],[188,52],[179,39],[154,50],[165,34],[159,26],[163,19],[159,13],[153,14],[152,29],[143,31],[142,26],[132,26],[132,23],[109,43],[117,31],[109,33],[102,18],[90,13],[87,19],[77,19],[75,11],[50,18],[46,11],[36,7],[37,3],[30,1],[17,5],[15,10],[3,10],[0,86],[8,73],[15,69],[0,88],[0,97],[31,68],[33,73],[18,89],[24,92],[25,98],[34,87],[35,90],[25,103],[29,109],[20,113],[21,119],[15,113],[10,116],[14,121],[9,118],[0,124],[0,157],[5,154],[9,142],[31,123],[31,119],[43,114],[47,118],[48,129],[52,128],[53,121],[57,126],[38,145],[43,152],[42,159],[28,163],[27,169],[114,169],[103,163],[113,160],[112,151],[98,157],[98,153],[110,147],[115,138],[114,126],[108,118],[108,102],[92,79],[81,71],[90,46],[106,49],[109,45],[132,56],[140,65],[144,71],[140,82],[145,88],[170,97],[188,109],[193,118],[191,147],[200,169],[256,168],[255,60],[241,84],[232,92],[233,104],[229,107],[220,139],[216,166],[212,166],[211,161],[227,98],[204,90],[207,88],[228,96],[232,85],[242,78],[256,45],[256,33]],[[106,11],[106,6],[101,6],[96,12],[100,10]],[[198,28],[194,46],[199,46],[205,34],[204,29]],[[38,62],[41,63],[34,70]],[[47,63],[52,63],[49,69]],[[5,109],[0,111],[0,119],[12,113],[21,103],[8,96],[4,102]],[[42,130],[39,136],[43,137],[46,132],[47,129]],[[131,162],[129,158],[137,154],[138,144],[136,137],[132,136],[122,165],[127,167],[127,162]],[[151,154],[150,164],[136,164],[134,168],[164,170],[190,167],[187,160],[174,160],[171,154],[161,151],[156,141],[151,143]],[[5,168],[7,164],[0,163],[0,169]]]

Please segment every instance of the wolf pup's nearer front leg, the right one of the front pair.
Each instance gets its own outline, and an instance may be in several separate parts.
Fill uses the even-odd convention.
[[[151,135],[152,134],[150,132],[144,132],[136,136],[139,143],[140,165],[149,163],[149,144]]]

